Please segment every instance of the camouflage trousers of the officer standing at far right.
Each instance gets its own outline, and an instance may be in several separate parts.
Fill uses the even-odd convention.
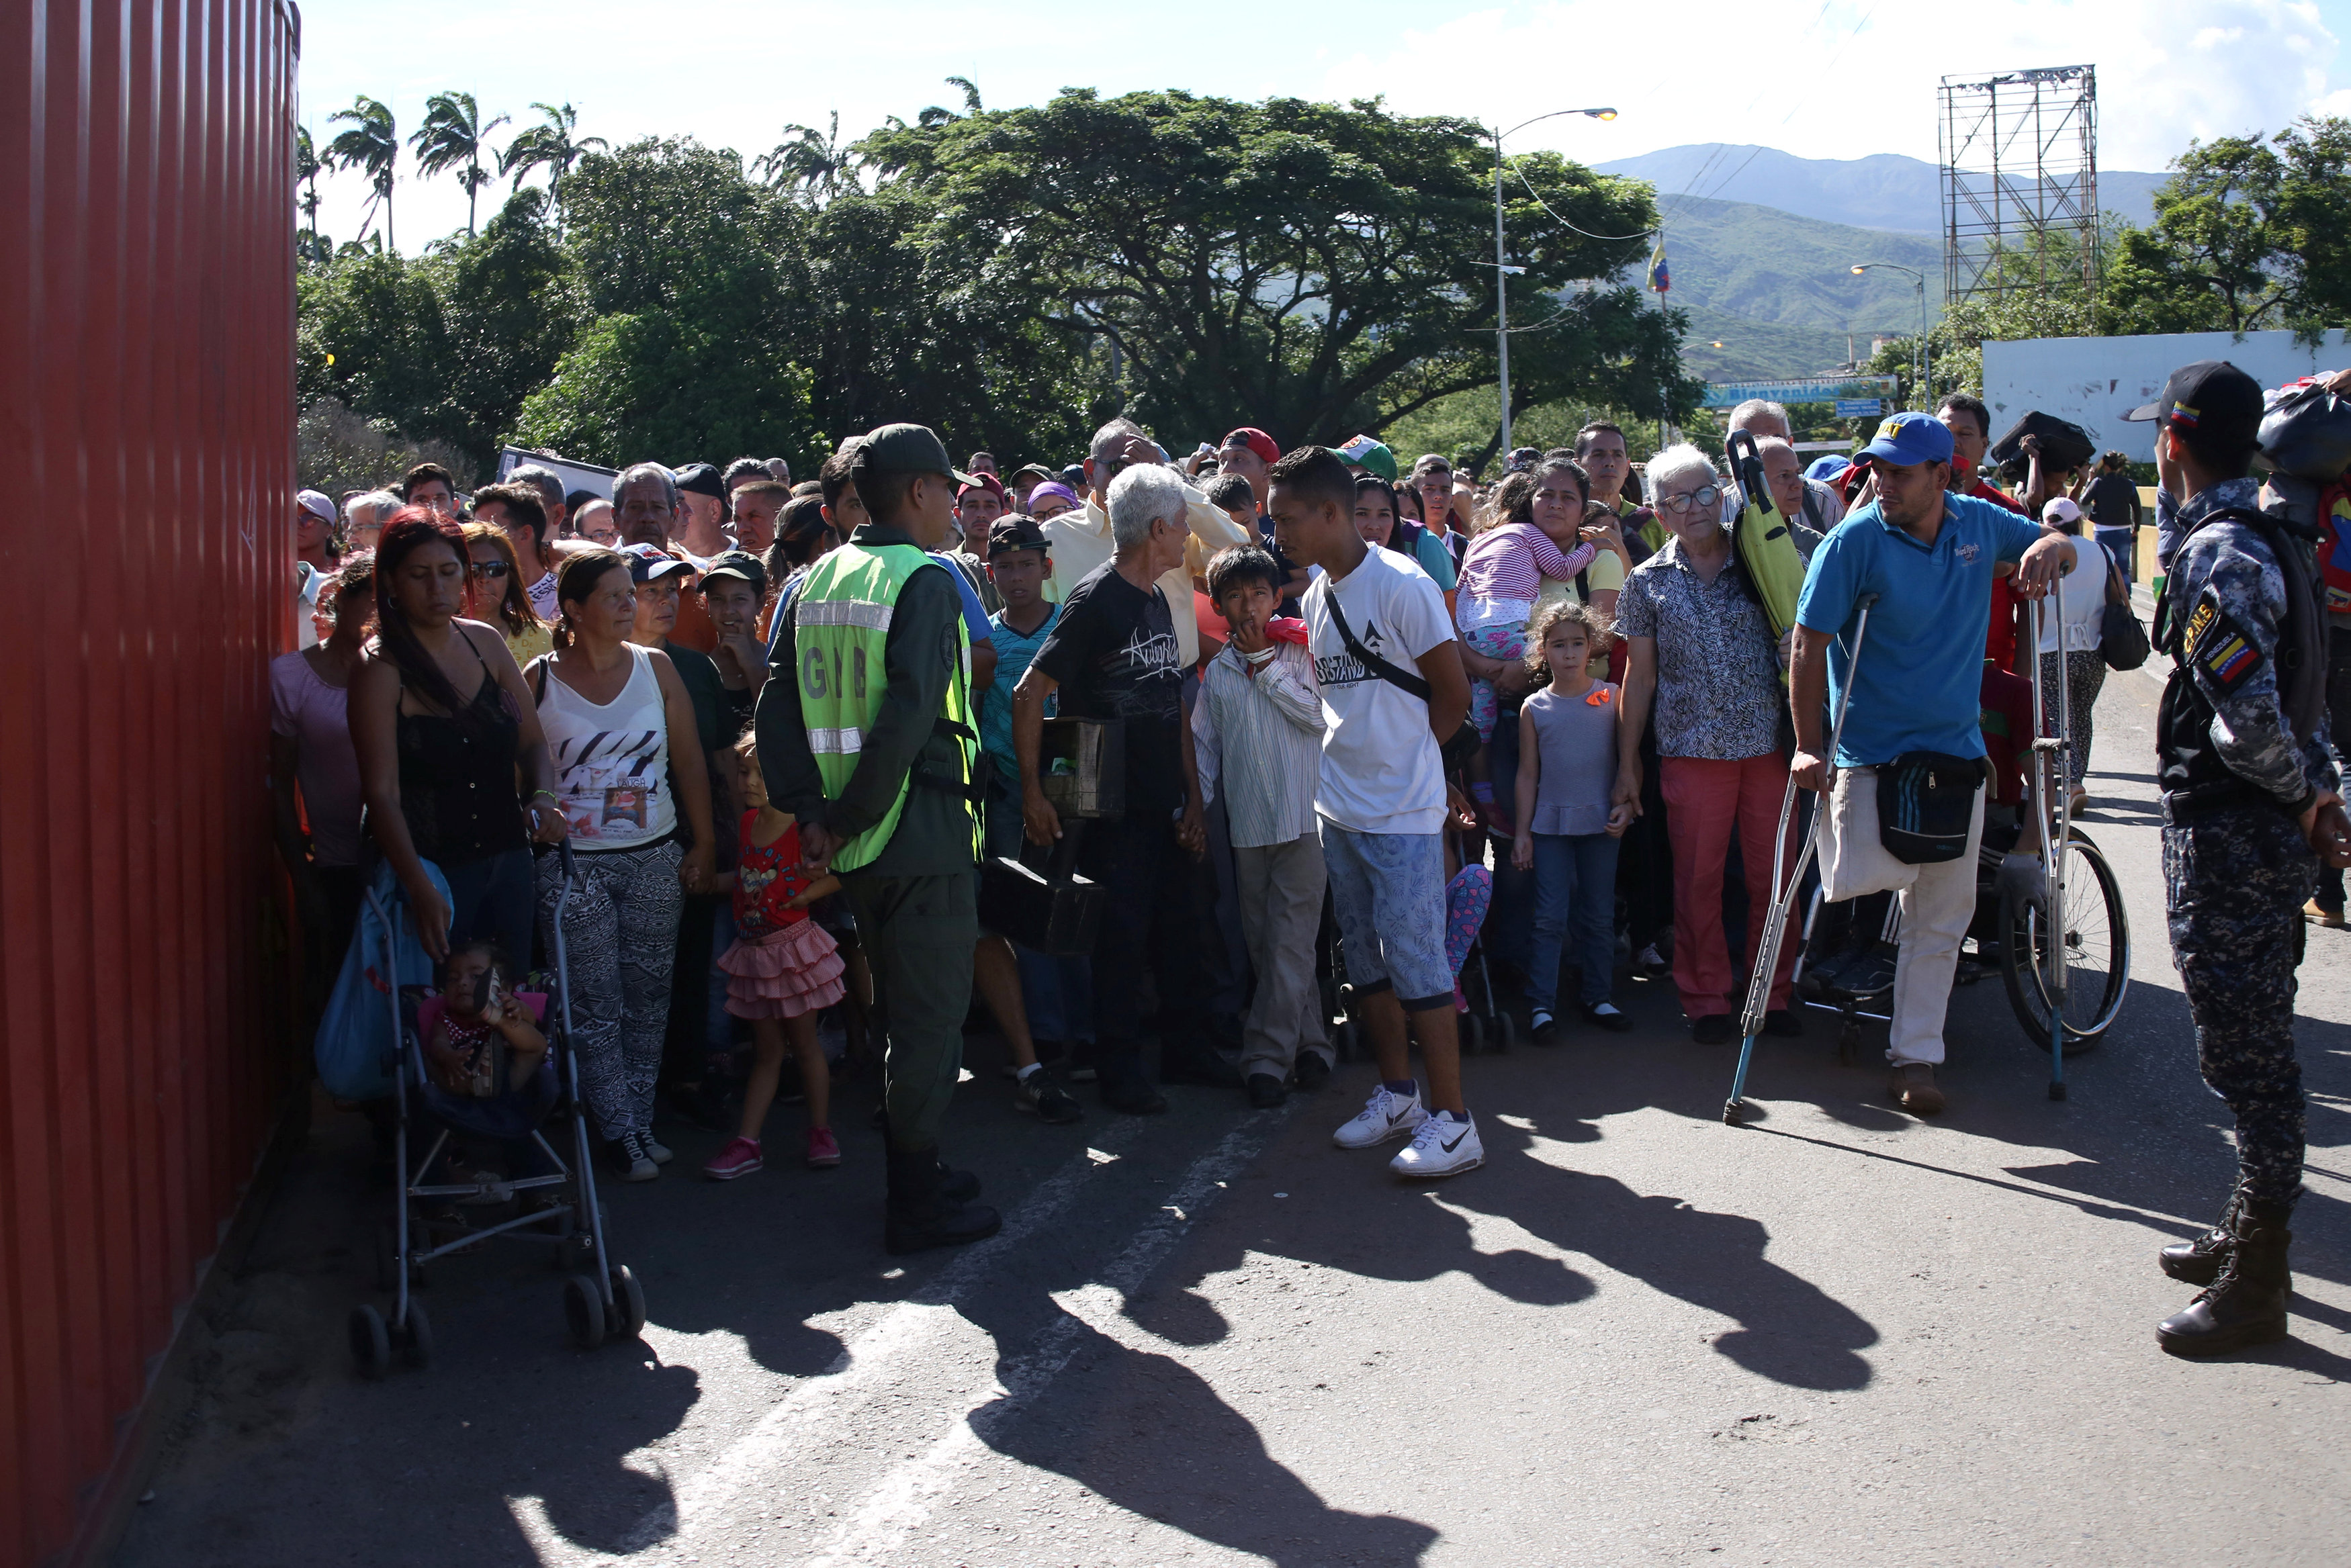
[[[2295,969],[2318,856],[2276,806],[2163,825],[2172,964],[2196,1020],[2196,1067],[2236,1114],[2238,1180],[2264,1204],[2302,1194]]]

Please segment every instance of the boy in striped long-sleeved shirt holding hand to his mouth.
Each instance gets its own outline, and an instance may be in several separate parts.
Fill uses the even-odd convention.
[[[1232,639],[1201,672],[1192,755],[1204,799],[1225,799],[1241,936],[1258,973],[1241,1027],[1241,1074],[1253,1107],[1281,1105],[1295,1074],[1312,1093],[1331,1079],[1314,933],[1326,884],[1314,825],[1324,712],[1305,625],[1272,625],[1284,574],[1255,545],[1208,562],[1208,599]]]

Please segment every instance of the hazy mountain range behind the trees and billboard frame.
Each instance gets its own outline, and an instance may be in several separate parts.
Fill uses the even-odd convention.
[[[1942,193],[1935,165],[1897,153],[1796,158],[1700,143],[1596,165],[1657,186],[1669,301],[1690,315],[1681,360],[1707,381],[1810,376],[1867,357],[1874,334],[1918,331],[1942,315]],[[2168,174],[2102,169],[2099,207],[2154,216]],[[1855,263],[1886,270],[1855,277]],[[1848,339],[1850,334],[1850,339]]]

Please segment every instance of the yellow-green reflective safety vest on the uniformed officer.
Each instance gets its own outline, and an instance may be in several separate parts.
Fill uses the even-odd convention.
[[[799,682],[799,715],[809,733],[809,750],[816,755],[816,773],[825,780],[825,799],[839,799],[858,771],[858,755],[865,736],[872,733],[882,712],[882,696],[889,691],[882,654],[889,644],[891,614],[910,576],[924,567],[938,567],[915,545],[842,545],[809,567],[792,599],[792,642],[799,658],[795,679]],[[973,809],[973,766],[978,759],[978,733],[971,726],[971,628],[962,611],[955,616],[957,672],[947,682],[945,710],[936,731],[952,736],[957,745],[957,778],[940,778],[919,764],[898,780],[898,797],[882,813],[882,820],[849,839],[835,856],[832,870],[853,872],[870,865],[898,832],[905,813],[905,795],[915,785],[955,795],[971,813],[973,856],[978,856],[980,827]]]

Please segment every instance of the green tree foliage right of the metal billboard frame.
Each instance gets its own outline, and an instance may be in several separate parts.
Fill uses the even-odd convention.
[[[2351,120],[2201,141],[2172,169],[2156,221],[2116,237],[2111,329],[2313,336],[2351,320]]]

